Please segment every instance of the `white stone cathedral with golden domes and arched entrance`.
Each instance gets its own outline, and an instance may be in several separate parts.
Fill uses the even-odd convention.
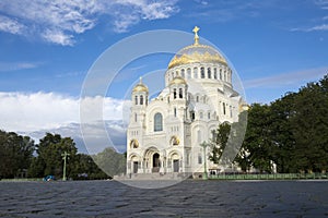
[[[138,178],[199,178],[218,169],[200,146],[220,123],[238,120],[245,101],[232,85],[233,71],[213,47],[199,43],[180,49],[168,63],[165,88],[149,100],[145,84],[131,93],[127,131],[127,174]],[[203,150],[207,149],[207,150]]]

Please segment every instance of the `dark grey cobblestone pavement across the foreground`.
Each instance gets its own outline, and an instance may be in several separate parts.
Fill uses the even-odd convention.
[[[0,217],[328,217],[328,182],[0,182]]]

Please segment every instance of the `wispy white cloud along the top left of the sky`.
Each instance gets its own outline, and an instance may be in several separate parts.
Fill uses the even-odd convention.
[[[168,0],[1,0],[0,12],[7,16],[0,16],[0,31],[72,46],[74,35],[92,29],[101,15],[121,33],[141,20],[169,17],[178,12],[175,4]]]

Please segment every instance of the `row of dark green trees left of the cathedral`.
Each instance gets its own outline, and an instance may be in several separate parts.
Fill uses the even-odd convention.
[[[0,178],[55,175],[61,179],[65,152],[70,154],[67,160],[67,177],[73,180],[110,178],[118,172],[106,168],[106,174],[94,159],[106,162],[104,158],[109,158],[110,161],[121,161],[125,158],[112,148],[94,156],[79,154],[74,141],[59,134],[46,133],[39,143],[35,144],[28,136],[0,131]]]

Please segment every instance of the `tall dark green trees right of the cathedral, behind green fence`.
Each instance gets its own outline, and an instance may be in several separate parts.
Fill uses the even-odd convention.
[[[270,173],[273,166],[280,173],[328,170],[328,74],[271,104],[253,104],[239,120],[246,117],[245,138],[234,159],[244,171],[254,167]],[[229,137],[244,135],[241,125],[243,122],[219,126],[210,143],[212,161],[218,162],[222,148],[231,147]],[[230,129],[237,134],[230,134]]]

